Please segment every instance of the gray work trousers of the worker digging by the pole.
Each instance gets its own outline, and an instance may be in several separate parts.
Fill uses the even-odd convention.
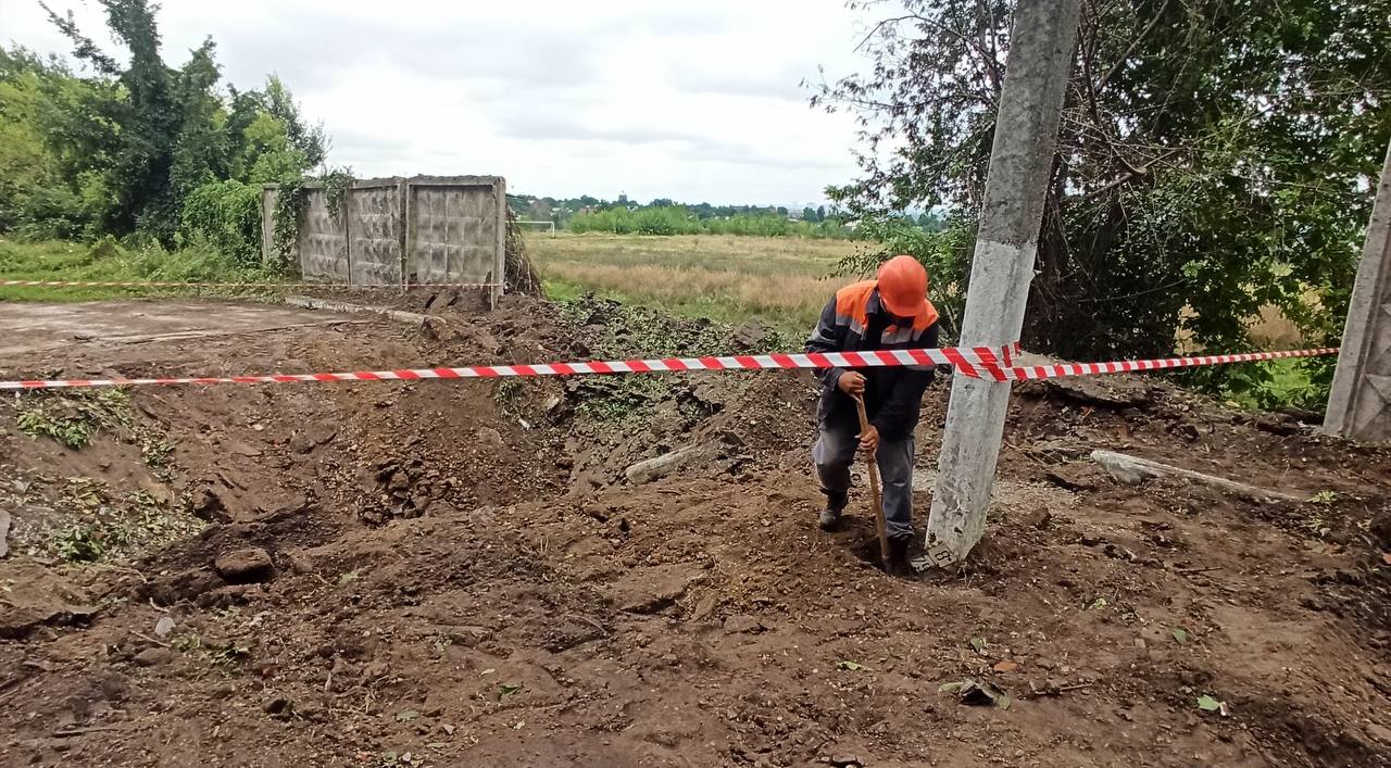
[[[849,498],[850,465],[860,451],[855,434],[822,429],[811,449],[821,491],[833,506],[844,506]],[[890,537],[912,536],[912,434],[903,440],[881,440],[875,456],[879,459],[879,481],[883,486],[885,529]]]

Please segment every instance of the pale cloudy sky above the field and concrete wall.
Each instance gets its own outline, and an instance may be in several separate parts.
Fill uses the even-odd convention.
[[[93,0],[50,0],[108,43]],[[865,68],[842,0],[164,0],[166,60],[211,35],[241,88],[277,72],[359,177],[501,174],[512,192],[815,203],[854,125],[798,83]],[[38,0],[0,36],[67,53]],[[110,46],[108,50],[118,50]]]

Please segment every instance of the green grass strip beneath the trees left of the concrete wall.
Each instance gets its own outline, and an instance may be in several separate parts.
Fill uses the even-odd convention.
[[[96,243],[19,242],[0,238],[0,280],[257,282],[274,280],[266,271],[235,264],[202,245],[166,250],[157,245],[122,248],[113,239]],[[191,288],[31,288],[0,285],[0,301],[83,302],[99,299],[182,295]],[[228,292],[223,289],[221,292]]]

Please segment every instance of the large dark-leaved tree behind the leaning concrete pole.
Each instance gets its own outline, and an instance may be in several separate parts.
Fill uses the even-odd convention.
[[[970,259],[1011,3],[904,8],[865,39],[871,74],[814,97],[867,135],[860,178],[828,192],[862,221],[950,205],[932,256],[950,270]],[[1025,344],[1232,349],[1262,306],[1310,342],[1334,335],[1391,132],[1388,15],[1391,0],[1084,0]]]

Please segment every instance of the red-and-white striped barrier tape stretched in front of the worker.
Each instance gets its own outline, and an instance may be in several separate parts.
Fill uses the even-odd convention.
[[[993,381],[1022,381],[1057,378],[1063,376],[1097,376],[1142,370],[1166,370],[1188,366],[1210,366],[1276,360],[1283,358],[1314,358],[1334,355],[1335,348],[1295,349],[1288,352],[1253,352],[1245,355],[1216,355],[1199,358],[1170,358],[1163,360],[1121,360],[1111,363],[1059,363],[1049,366],[1014,366],[1018,345],[1003,349],[990,346],[949,346],[943,349],[894,349],[878,352],[810,352],[773,355],[734,355],[711,358],[662,358],[651,360],[594,360],[583,363],[540,363],[510,366],[466,366],[401,370],[362,370],[351,373],[278,373],[270,376],[192,376],[159,378],[63,378],[0,381],[0,390],[57,390],[79,387],[145,387],[170,384],[295,384],[327,381],[420,381],[428,378],[498,378],[509,376],[588,376],[618,373],[670,373],[687,370],[765,370],[765,369],[826,369],[881,366],[951,366],[963,376]]]

